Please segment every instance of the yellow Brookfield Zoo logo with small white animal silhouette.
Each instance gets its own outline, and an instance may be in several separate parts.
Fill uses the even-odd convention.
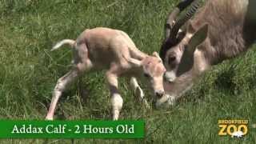
[[[218,135],[242,138],[248,133],[248,120],[218,120]]]

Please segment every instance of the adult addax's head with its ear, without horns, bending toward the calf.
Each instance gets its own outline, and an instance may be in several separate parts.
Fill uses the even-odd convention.
[[[208,33],[208,24],[198,30],[194,30],[191,23],[186,29],[186,36],[178,45],[170,47],[164,58],[166,66],[165,78],[168,82],[174,82],[176,77],[190,70],[194,65],[194,51],[205,41]]]

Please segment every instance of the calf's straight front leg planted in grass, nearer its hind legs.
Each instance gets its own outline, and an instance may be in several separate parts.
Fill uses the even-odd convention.
[[[118,92],[118,75],[111,71],[106,72],[106,79],[110,86],[110,97],[112,105],[113,120],[118,120],[120,111],[122,109],[122,97]]]

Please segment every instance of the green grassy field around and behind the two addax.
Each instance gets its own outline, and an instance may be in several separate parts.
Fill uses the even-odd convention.
[[[158,51],[170,0],[0,0],[0,118],[44,119],[57,79],[70,68],[71,50],[55,42],[86,28],[126,31],[146,53]],[[60,99],[56,119],[110,119],[104,74],[86,74]],[[255,143],[256,49],[214,66],[177,106],[146,110],[120,83],[121,119],[144,119],[144,139],[1,140],[0,143]],[[146,94],[150,99],[150,94]],[[249,119],[242,139],[218,136],[218,119]],[[0,124],[1,127],[1,124]]]

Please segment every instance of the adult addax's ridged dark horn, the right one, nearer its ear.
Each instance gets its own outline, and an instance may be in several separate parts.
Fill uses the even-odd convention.
[[[176,39],[178,30],[194,15],[194,13],[201,6],[200,4],[201,4],[200,0],[195,0],[194,2],[192,2],[191,6],[190,6],[189,10],[186,12],[186,14],[182,18],[179,18],[177,20],[177,22],[175,23],[174,27],[172,28],[172,31],[170,34],[171,40]]]

